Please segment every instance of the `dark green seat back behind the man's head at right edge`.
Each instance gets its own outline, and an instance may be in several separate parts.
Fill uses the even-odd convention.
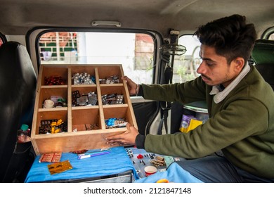
[[[274,40],[258,39],[252,51],[252,61],[274,90]]]

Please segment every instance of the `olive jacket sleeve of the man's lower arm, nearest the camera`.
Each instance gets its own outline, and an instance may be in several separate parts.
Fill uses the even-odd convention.
[[[266,132],[268,110],[263,103],[250,98],[230,102],[188,133],[152,135],[145,137],[145,150],[183,158],[200,158],[226,148],[232,154],[250,149],[251,143],[260,143],[254,135]],[[247,106],[248,105],[248,106]],[[252,107],[250,107],[250,106]]]

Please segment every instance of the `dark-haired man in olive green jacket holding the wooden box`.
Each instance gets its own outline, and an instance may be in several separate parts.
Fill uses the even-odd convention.
[[[148,152],[186,158],[178,162],[203,182],[274,181],[274,93],[248,65],[256,31],[231,15],[200,26],[200,77],[183,84],[141,84],[128,77],[130,94],[162,101],[207,101],[209,120],[180,134],[142,136],[127,125],[107,144],[136,144]],[[207,156],[221,150],[224,156]]]

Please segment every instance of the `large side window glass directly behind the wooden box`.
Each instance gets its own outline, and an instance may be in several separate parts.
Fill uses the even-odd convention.
[[[151,83],[154,39],[148,34],[47,32],[39,39],[41,64],[122,64],[136,83]]]

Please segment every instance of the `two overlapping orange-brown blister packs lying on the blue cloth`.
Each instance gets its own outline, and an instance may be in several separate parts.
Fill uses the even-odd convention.
[[[47,162],[53,163],[48,165],[48,170],[52,174],[57,174],[60,172],[65,172],[67,170],[72,169],[72,165],[69,160],[65,160],[60,162],[62,153],[46,153],[42,154],[39,158],[39,163]]]

